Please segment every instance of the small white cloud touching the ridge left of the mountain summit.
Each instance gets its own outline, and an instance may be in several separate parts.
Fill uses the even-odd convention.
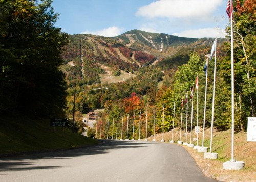
[[[114,37],[122,34],[122,31],[123,31],[122,28],[113,26],[106,29],[102,29],[102,30],[96,30],[96,31],[86,30],[81,32],[81,34],[93,34],[93,35],[101,35],[104,37]]]

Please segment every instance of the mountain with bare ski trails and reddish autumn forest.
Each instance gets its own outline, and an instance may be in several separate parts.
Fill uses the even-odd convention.
[[[219,39],[219,42],[224,40]],[[131,30],[116,37],[70,35],[69,41],[62,54],[66,62],[62,69],[66,72],[68,86],[72,86],[74,83],[100,83],[100,74],[119,76],[121,70],[134,73],[141,67],[152,64],[165,69],[170,66],[177,68],[189,60],[189,54],[193,51],[197,51],[202,57],[208,54],[214,38],[186,38]],[[169,57],[178,59],[162,62]]]

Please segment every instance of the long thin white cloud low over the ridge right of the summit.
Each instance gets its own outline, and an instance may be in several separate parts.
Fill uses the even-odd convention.
[[[226,32],[224,29],[205,28],[205,29],[185,30],[179,33],[173,33],[172,35],[176,35],[178,37],[190,37],[190,38],[203,38],[203,37],[215,38],[216,36],[218,38],[224,38],[226,36]]]

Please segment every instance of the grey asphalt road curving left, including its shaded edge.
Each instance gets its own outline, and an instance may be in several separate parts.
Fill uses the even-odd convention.
[[[216,181],[177,144],[101,140],[86,148],[0,158],[0,181]]]

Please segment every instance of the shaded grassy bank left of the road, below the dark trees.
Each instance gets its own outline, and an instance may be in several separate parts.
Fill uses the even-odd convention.
[[[0,118],[0,154],[46,151],[91,146],[97,140],[72,133],[71,129],[51,127],[50,119]]]

